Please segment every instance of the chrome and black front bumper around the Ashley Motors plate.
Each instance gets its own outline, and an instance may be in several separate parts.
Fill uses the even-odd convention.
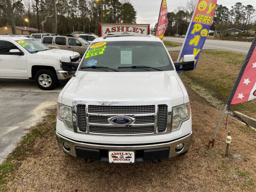
[[[56,132],[59,147],[67,154],[79,158],[87,158],[94,161],[108,162],[108,150],[134,150],[135,162],[151,161],[155,159],[171,158],[187,151],[191,144],[192,132],[184,137],[167,142],[146,143],[137,145],[110,145],[99,143],[79,142],[63,137]],[[63,147],[67,142],[70,150]],[[175,148],[179,143],[184,147],[180,151]]]

